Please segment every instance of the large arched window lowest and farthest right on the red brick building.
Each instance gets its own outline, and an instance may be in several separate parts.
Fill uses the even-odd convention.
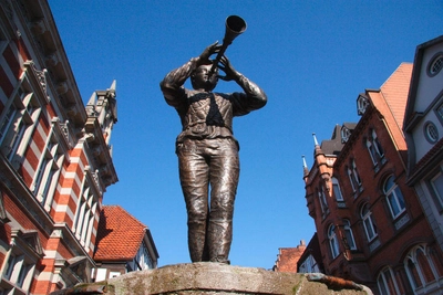
[[[404,260],[404,268],[414,289],[433,283],[439,277],[432,255],[425,245],[418,245],[411,250]]]

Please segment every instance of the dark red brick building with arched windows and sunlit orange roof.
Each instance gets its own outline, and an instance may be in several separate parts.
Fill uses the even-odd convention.
[[[360,94],[360,120],[336,126],[321,145],[315,138],[313,165],[305,166],[326,274],[375,294],[441,294],[443,255],[406,185],[402,124],[411,73],[403,63],[380,89]]]

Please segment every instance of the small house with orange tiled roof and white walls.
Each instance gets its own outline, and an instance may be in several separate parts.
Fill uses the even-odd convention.
[[[158,252],[145,224],[120,206],[104,206],[93,257],[96,267],[92,280],[101,282],[134,271],[156,268]]]

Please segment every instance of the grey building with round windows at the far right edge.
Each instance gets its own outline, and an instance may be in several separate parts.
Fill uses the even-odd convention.
[[[404,118],[408,183],[443,251],[443,36],[416,48]]]

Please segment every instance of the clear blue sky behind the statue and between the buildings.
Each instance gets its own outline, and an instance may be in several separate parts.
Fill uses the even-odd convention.
[[[400,63],[413,62],[416,45],[443,34],[440,0],[49,2],[83,101],[117,81],[112,144],[120,181],[104,203],[121,204],[151,229],[161,266],[189,256],[174,152],[181,124],[158,83],[222,42],[228,15],[248,28],[226,55],[268,95],[266,107],[234,120],[241,172],[229,257],[264,268],[279,247],[315,232],[301,161],[306,155],[312,165],[311,134],[330,139],[336,124],[357,122],[358,94],[379,88]],[[239,87],[220,82],[217,91]]]

